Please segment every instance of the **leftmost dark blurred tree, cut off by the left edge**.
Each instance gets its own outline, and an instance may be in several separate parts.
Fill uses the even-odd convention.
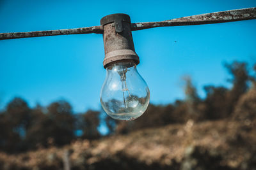
[[[1,113],[0,148],[6,152],[24,150],[22,139],[31,125],[32,115],[26,101],[15,97]]]

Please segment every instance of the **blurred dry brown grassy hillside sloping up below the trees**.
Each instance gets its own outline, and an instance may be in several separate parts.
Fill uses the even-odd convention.
[[[230,118],[170,124],[62,148],[0,153],[0,169],[256,169],[256,90]]]

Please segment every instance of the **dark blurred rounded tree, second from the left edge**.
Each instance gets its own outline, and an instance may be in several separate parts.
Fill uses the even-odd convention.
[[[38,146],[66,145],[75,139],[75,118],[67,101],[56,101],[47,109],[37,105],[32,113],[33,124],[25,139],[30,149]]]

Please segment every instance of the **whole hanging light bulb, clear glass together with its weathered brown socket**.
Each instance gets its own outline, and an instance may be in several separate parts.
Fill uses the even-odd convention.
[[[140,59],[135,53],[129,15],[103,17],[103,62],[107,70],[100,92],[100,103],[106,113],[117,120],[134,120],[147,109],[150,92],[136,69]]]

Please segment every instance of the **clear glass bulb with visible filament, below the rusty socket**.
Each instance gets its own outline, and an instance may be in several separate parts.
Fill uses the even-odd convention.
[[[147,83],[131,62],[118,62],[107,67],[100,92],[100,103],[106,113],[117,120],[140,117],[149,103]]]

